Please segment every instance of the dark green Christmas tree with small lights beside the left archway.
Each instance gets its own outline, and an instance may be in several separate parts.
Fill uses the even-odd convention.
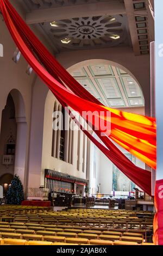
[[[15,175],[7,192],[7,204],[20,205],[24,200],[23,186],[19,176]]]

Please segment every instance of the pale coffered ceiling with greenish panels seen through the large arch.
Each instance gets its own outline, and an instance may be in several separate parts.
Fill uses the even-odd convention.
[[[126,71],[115,66],[100,63],[84,65],[74,69],[71,75],[105,106],[114,108],[145,106],[139,84]]]

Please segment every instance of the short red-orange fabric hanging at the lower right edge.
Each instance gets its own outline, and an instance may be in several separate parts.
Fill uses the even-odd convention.
[[[153,222],[153,242],[155,245],[163,245],[163,180],[156,181],[154,204],[156,214]]]

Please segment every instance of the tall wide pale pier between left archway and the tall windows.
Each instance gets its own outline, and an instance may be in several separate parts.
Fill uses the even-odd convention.
[[[39,188],[40,185],[43,185],[44,181],[41,164],[45,101],[47,93],[48,87],[37,78],[33,89],[29,140],[28,187],[32,188]]]

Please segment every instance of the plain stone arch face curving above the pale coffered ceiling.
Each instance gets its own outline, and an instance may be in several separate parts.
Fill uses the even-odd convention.
[[[135,56],[128,47],[111,47],[108,49],[83,50],[74,52],[61,52],[57,59],[65,69],[69,70],[75,64],[92,60],[106,60],[123,66],[129,74],[141,85],[145,97],[145,113],[150,115],[151,109],[151,88],[150,88],[150,57]]]

